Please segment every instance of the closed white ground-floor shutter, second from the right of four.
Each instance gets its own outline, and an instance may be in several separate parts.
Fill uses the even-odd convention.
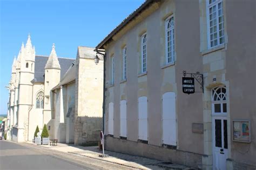
[[[147,97],[139,98],[139,139],[147,140]]]

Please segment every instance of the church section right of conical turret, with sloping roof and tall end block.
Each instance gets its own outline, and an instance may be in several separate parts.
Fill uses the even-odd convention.
[[[52,89],[55,138],[76,145],[98,142],[102,131],[103,60],[79,46],[76,61]]]

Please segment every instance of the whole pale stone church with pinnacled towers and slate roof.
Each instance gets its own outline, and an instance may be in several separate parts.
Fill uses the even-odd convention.
[[[100,73],[103,72],[103,62],[100,61],[98,65],[92,63],[91,58],[96,53],[93,49],[84,48],[89,49],[89,52],[85,50],[87,53],[84,52],[82,56],[86,58],[85,62],[80,62],[79,57],[76,60],[57,57],[54,44],[49,57],[36,55],[30,36],[26,46],[22,44],[18,58],[12,64],[12,76],[8,86],[9,140],[32,141],[36,126],[42,131],[44,124],[48,127],[50,139],[75,144],[96,140],[89,134],[98,132],[102,124],[90,120],[102,119],[102,94],[100,90],[95,92],[95,89],[102,89],[103,77]],[[93,69],[97,69],[94,74]],[[82,82],[86,87],[82,84],[78,86],[77,82]],[[83,91],[84,89],[86,90]],[[78,98],[76,93],[81,93],[82,96]],[[95,101],[95,98],[98,100]],[[93,103],[96,108],[92,108],[93,112],[86,108],[76,112],[76,103],[86,106]],[[89,127],[80,120],[80,117],[86,115],[89,118],[84,121],[90,121],[86,124]],[[76,142],[78,139],[79,142]]]

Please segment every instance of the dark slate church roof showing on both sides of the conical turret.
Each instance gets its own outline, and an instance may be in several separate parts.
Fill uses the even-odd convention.
[[[35,57],[35,77],[33,79],[34,82],[37,82],[37,83],[44,82],[44,67],[48,58],[49,58],[48,56]],[[65,72],[72,65],[72,63],[75,62],[75,59],[58,57],[58,60],[59,60],[59,65],[61,67],[60,78],[62,78]]]

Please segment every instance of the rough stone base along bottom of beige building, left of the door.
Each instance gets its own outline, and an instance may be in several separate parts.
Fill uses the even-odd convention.
[[[109,151],[137,155],[140,157],[172,162],[173,164],[186,165],[194,168],[201,168],[202,158],[207,157],[207,155],[203,154],[148,145],[109,136],[105,136],[104,147]]]

